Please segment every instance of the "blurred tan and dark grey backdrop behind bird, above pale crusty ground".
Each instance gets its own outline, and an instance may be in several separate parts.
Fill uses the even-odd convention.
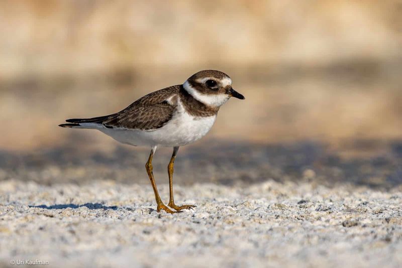
[[[181,149],[177,180],[399,186],[401,14],[397,0],[2,1],[0,178],[147,182],[148,149],[57,125],[218,69],[246,100]]]

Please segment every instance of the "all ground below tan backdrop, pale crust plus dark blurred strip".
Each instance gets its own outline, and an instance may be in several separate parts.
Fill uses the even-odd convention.
[[[402,143],[344,149],[183,148],[175,200],[197,207],[175,215],[155,211],[148,150],[0,151],[0,266],[400,267]],[[153,161],[165,202],[170,154]]]

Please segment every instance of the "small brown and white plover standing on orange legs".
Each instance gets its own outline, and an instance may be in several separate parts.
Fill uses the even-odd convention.
[[[180,212],[194,205],[177,206],[173,199],[173,165],[180,146],[203,138],[214,124],[219,108],[230,98],[244,99],[232,88],[225,73],[204,70],[193,74],[182,85],[169,86],[149,93],[120,112],[92,117],[67,119],[62,127],[92,128],[104,132],[120,143],[149,146],[145,165],[155,193],[157,211]],[[173,147],[168,165],[168,206],[164,205],[152,173],[152,158],[157,147]]]

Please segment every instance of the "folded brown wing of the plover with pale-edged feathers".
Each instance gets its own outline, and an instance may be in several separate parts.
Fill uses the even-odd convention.
[[[108,128],[127,129],[156,129],[164,126],[169,121],[176,103],[166,99],[179,93],[180,86],[171,86],[149,93],[133,102],[124,110],[112,114],[102,121]]]

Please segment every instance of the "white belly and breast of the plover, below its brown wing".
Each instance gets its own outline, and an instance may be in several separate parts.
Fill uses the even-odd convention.
[[[180,109],[167,124],[155,130],[110,128],[99,130],[124,144],[174,147],[187,145],[203,138],[210,131],[216,117],[216,115],[195,117]]]

